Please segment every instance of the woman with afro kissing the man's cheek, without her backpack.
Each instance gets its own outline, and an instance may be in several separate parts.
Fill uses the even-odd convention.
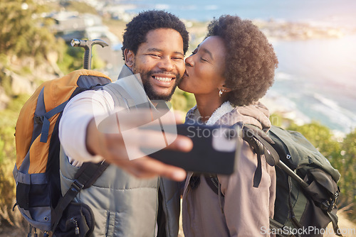
[[[237,16],[214,19],[205,40],[185,62],[179,88],[194,93],[197,100],[188,120],[228,126],[242,121],[268,131],[268,109],[258,99],[273,84],[278,60],[266,36],[251,21]],[[261,182],[253,187],[256,167],[256,153],[244,142],[236,172],[217,175],[221,193],[209,187],[204,175],[187,175],[184,235],[268,236],[276,174],[262,158]]]

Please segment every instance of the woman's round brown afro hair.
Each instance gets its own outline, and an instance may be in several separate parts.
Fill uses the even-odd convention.
[[[274,81],[278,60],[265,35],[251,21],[224,15],[209,23],[206,37],[217,35],[226,48],[224,77],[228,99],[244,106],[263,97]]]

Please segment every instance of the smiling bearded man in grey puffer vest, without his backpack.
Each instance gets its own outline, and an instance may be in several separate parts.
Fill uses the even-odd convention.
[[[189,38],[184,23],[164,11],[145,11],[127,23],[123,39],[125,65],[115,84],[119,84],[130,96],[126,97],[123,93],[122,99],[128,101],[128,97],[131,97],[135,104],[140,104],[147,97],[150,100],[169,100],[185,70],[184,54]],[[145,91],[140,89],[140,80],[133,76],[137,73]],[[127,80],[128,77],[134,78]],[[93,235],[155,236],[156,224],[164,223],[167,219],[169,221],[164,226],[159,226],[158,235],[177,236],[177,183],[168,184],[167,180],[161,181],[155,176],[183,180],[185,172],[152,158],[129,160],[122,134],[100,133],[96,115],[114,110],[114,100],[105,90],[83,92],[70,100],[63,111],[59,128],[59,137],[66,153],[61,158],[62,193],[70,187],[78,170],[76,166],[80,166],[81,162],[105,160],[114,165],[110,165],[92,187],[83,189],[76,197],[77,202],[88,204],[93,210]],[[155,108],[150,100],[150,106]],[[147,140],[155,140],[152,133],[142,136],[144,138],[140,140],[145,140],[145,136],[149,138]],[[177,150],[189,150],[192,143],[187,138],[178,138],[171,146]],[[151,178],[140,180],[127,172],[137,177]],[[157,214],[158,197],[163,202]]]

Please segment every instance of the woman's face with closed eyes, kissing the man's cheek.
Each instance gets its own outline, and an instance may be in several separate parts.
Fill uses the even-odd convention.
[[[186,58],[186,71],[179,84],[179,89],[199,94],[219,94],[219,88],[225,84],[224,41],[219,36],[206,38]]]

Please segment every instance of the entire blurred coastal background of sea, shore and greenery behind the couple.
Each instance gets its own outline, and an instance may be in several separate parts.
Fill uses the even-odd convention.
[[[303,133],[340,170],[339,206],[356,226],[356,1],[354,0],[0,0],[0,235],[23,229],[14,206],[14,127],[39,84],[83,67],[72,38],[100,38],[92,67],[116,79],[123,65],[125,25],[140,11],[162,9],[182,18],[187,56],[204,40],[212,18],[248,18],[276,50],[275,84],[262,99],[273,124]],[[187,112],[192,94],[179,89],[174,109]]]

